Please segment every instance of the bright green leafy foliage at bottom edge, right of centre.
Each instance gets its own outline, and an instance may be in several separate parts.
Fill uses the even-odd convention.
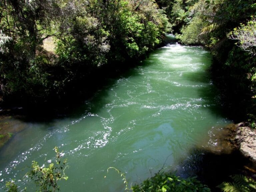
[[[196,177],[183,179],[174,174],[163,173],[157,173],[154,177],[143,181],[140,185],[134,185],[132,190],[134,192],[210,192],[210,189],[206,185],[201,184]]]

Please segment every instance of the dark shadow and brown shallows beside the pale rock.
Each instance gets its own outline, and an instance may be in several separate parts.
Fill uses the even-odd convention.
[[[197,176],[212,192],[221,192],[222,182],[234,182],[231,175],[241,174],[256,179],[256,164],[241,153],[234,143],[235,124],[213,129],[207,143],[194,146],[186,159],[181,160],[177,174],[181,177]]]

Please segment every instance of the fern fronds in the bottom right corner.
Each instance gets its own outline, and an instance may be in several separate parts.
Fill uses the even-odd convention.
[[[256,191],[256,182],[252,178],[245,177],[244,175],[230,176],[233,182],[223,182],[218,185],[224,192],[250,192]]]

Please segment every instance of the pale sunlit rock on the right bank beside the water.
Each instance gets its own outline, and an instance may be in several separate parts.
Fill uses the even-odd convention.
[[[256,130],[252,130],[243,123],[236,125],[235,139],[239,143],[240,151],[256,163]]]

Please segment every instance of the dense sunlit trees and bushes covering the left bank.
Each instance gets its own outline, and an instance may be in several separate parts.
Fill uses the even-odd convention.
[[[77,98],[145,58],[167,27],[153,0],[1,0],[0,101],[42,107]]]

